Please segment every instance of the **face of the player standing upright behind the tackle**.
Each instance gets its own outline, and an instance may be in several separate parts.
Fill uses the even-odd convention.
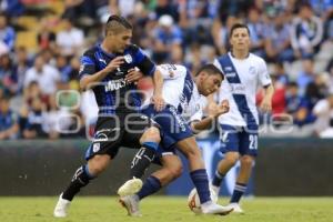
[[[246,28],[234,29],[230,38],[230,44],[233,50],[249,50],[250,36]]]

